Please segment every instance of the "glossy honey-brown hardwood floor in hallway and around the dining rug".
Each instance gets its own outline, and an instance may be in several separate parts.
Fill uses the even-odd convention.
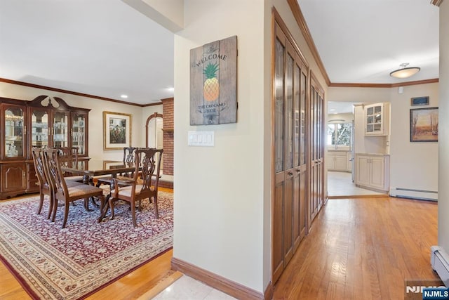
[[[274,287],[274,299],[403,299],[404,280],[438,279],[437,204],[392,197],[331,199]],[[88,299],[137,299],[168,270],[160,256]],[[0,266],[0,299],[29,299]]]

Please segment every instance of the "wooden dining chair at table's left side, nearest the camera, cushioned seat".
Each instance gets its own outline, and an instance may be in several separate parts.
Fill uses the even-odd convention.
[[[64,203],[64,220],[62,221],[62,228],[67,224],[67,216],[69,215],[69,203],[75,200],[84,200],[84,208],[88,211],[88,199],[90,197],[98,197],[100,199],[100,207],[105,207],[105,197],[103,190],[93,185],[78,184],[74,186],[67,185],[67,182],[62,172],[63,160],[60,157],[58,149],[43,150],[44,166],[47,168],[48,178],[53,189],[53,214],[51,221],[55,221],[56,209],[58,208],[58,201]],[[100,215],[102,211],[100,209]]]

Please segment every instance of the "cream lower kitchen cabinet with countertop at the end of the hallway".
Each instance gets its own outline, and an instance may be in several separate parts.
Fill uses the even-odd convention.
[[[389,155],[356,154],[355,183],[383,193],[389,190]]]

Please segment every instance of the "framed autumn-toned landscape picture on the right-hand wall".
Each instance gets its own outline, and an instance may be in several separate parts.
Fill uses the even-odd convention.
[[[410,109],[410,142],[438,142],[438,107]]]

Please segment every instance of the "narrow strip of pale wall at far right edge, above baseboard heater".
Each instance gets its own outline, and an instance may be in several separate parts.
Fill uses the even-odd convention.
[[[438,245],[449,253],[449,1],[440,6]]]

